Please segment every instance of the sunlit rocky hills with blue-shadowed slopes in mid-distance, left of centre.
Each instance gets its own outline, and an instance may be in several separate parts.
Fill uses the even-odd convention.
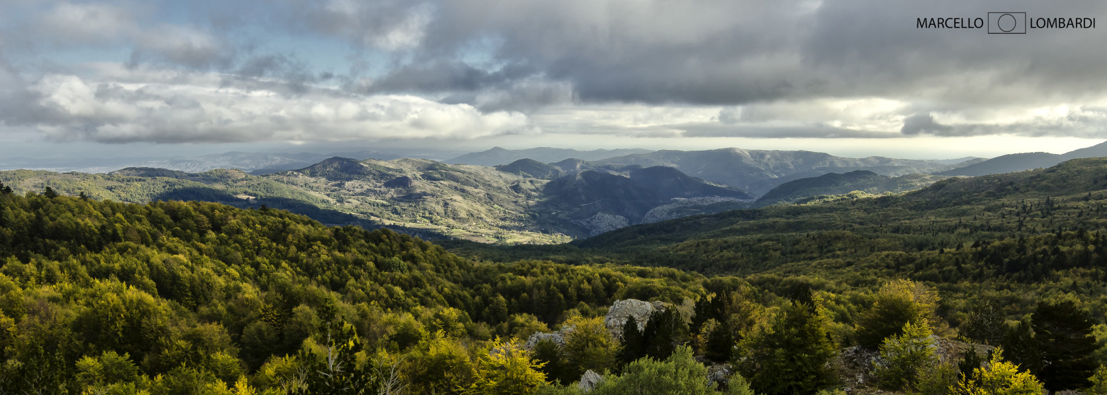
[[[599,169],[599,168],[597,168]],[[426,159],[328,158],[271,174],[126,168],[108,174],[15,170],[20,192],[144,203],[196,200],[289,210],[328,224],[389,226],[426,238],[556,243],[680,215],[746,207],[743,191],[671,168],[612,166],[566,172],[534,160],[496,168]],[[654,209],[659,209],[654,211]],[[651,214],[651,211],[652,214]]]

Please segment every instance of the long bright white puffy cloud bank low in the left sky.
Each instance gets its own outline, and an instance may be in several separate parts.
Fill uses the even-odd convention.
[[[63,141],[464,139],[529,127],[520,113],[482,114],[469,105],[408,95],[354,96],[317,89],[286,96],[215,84],[118,83],[73,75],[46,75],[31,89],[49,115],[25,122]]]

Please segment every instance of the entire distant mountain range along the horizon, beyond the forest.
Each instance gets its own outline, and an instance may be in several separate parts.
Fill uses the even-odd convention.
[[[586,160],[567,154],[599,158]],[[840,158],[810,151],[735,148],[705,151],[493,149],[458,158],[511,158],[495,167],[427,159],[314,160],[314,153],[227,152],[169,167],[133,167],[107,174],[4,171],[20,192],[62,193],[125,202],[198,200],[242,207],[267,205],[328,224],[390,226],[423,237],[483,243],[558,243],[686,215],[808,201],[851,191],[918,190],[955,172],[1042,167],[1064,158],[1107,154],[1107,143],[1069,153],[1022,153],[982,161]],[[492,159],[489,159],[492,158]],[[225,164],[242,170],[207,170]],[[294,170],[279,170],[287,167]],[[962,168],[958,168],[963,166]],[[196,170],[196,171],[193,171]],[[951,171],[952,170],[952,171]],[[930,173],[930,174],[928,174]],[[756,199],[755,198],[759,198]]]

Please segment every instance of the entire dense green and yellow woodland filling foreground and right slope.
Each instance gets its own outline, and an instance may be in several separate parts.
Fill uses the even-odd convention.
[[[0,394],[1107,394],[1105,168],[461,255],[0,186]]]

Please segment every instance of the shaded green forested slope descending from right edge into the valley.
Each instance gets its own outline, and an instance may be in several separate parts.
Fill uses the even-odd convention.
[[[1104,174],[1107,174],[1107,158],[1073,159],[1042,170],[949,178],[919,191],[891,196],[772,205],[628,226],[569,245],[492,247],[463,242],[445,245],[455,254],[482,259],[610,261],[708,274],[758,274],[752,277],[753,281],[776,286],[782,284],[782,276],[811,278],[813,273],[820,276],[832,273],[850,281],[872,284],[879,282],[875,277],[900,269],[917,278],[941,281],[955,269],[954,264],[938,260],[941,254],[960,252],[964,257],[974,257],[987,250],[986,241],[1005,237],[1006,242],[992,245],[994,250],[1014,250],[1011,263],[995,259],[981,266],[997,275],[977,278],[992,280],[1016,273],[1016,265],[1023,265],[1023,270],[1031,270],[1035,267],[1032,265],[1049,265],[1032,264],[1041,259],[1038,255],[1015,249],[1024,239],[1047,241],[1038,249],[1041,254],[1053,249],[1048,243],[1062,237],[1055,235],[1068,234],[1069,239],[1097,237],[1090,229],[1103,223],[1101,209],[1107,203]],[[872,178],[865,173],[851,177]],[[1063,232],[1054,233],[1055,229]],[[1077,248],[1076,254],[1069,255],[1074,261],[1070,265],[1094,257],[1077,255],[1082,249],[1090,249],[1086,248]],[[904,258],[915,252],[927,252],[935,261]],[[1016,263],[1016,257],[1024,259],[1022,264]],[[965,259],[964,273],[976,271],[969,269],[968,261],[972,260],[986,259]],[[993,287],[989,282],[979,291]]]

